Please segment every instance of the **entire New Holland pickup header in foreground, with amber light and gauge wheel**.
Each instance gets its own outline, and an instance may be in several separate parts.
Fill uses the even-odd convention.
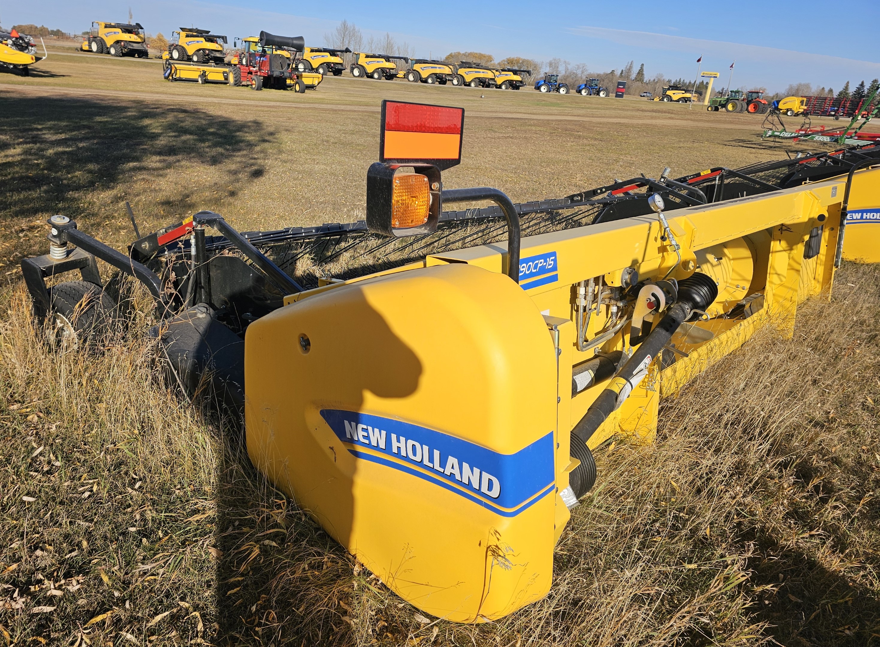
[[[276,488],[401,598],[484,622],[550,591],[591,450],[649,443],[660,399],[760,327],[792,335],[845,249],[880,261],[880,145],[517,206],[443,187],[463,130],[383,102],[365,223],[244,236],[200,211],[122,254],[55,216],[22,271],[69,345],[107,320],[96,259],[137,276],[171,383],[243,409]]]

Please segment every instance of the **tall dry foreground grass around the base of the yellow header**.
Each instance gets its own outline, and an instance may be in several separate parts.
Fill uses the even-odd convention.
[[[16,643],[870,643],[880,271],[839,279],[792,340],[767,331],[665,402],[656,445],[599,451],[553,591],[480,627],[422,624],[268,487],[233,426],[157,379],[146,322],[50,356],[15,290],[0,623]]]

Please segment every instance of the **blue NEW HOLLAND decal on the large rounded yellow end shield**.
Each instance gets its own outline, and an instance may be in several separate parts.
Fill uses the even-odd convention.
[[[341,409],[320,413],[356,458],[436,483],[504,517],[516,516],[554,491],[553,431],[516,453],[502,454],[378,415]]]

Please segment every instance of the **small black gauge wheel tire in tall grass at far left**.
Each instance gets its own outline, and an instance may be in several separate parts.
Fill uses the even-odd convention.
[[[116,302],[87,281],[67,281],[49,289],[46,339],[53,349],[95,348],[106,342],[116,324]]]

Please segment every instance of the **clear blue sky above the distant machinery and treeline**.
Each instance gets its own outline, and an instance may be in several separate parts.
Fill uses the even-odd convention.
[[[148,32],[166,36],[181,25],[193,25],[228,36],[260,30],[304,35],[307,44],[320,45],[324,34],[345,18],[367,36],[392,33],[425,57],[455,50],[488,52],[496,60],[509,55],[540,61],[558,57],[586,63],[595,72],[620,70],[634,60],[636,67],[645,63],[649,76],[693,77],[702,55],[703,70],[720,72],[724,85],[736,59],[734,86],[763,85],[771,92],[801,82],[836,90],[847,80],[855,85],[880,77],[876,35],[869,28],[860,33],[860,26],[877,24],[876,2],[862,3],[843,18],[831,4],[814,0],[785,5],[753,0],[446,0],[436,4],[437,11],[428,11],[423,3],[363,0],[40,0],[4,4],[0,21],[7,27],[36,23],[80,32],[93,19],[128,19],[129,6]]]

